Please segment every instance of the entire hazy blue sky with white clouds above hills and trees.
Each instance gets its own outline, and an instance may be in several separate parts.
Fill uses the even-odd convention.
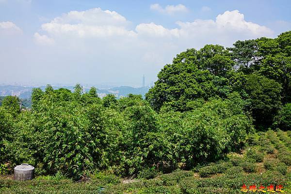
[[[0,83],[134,85],[187,48],[291,30],[290,0],[0,0]]]

